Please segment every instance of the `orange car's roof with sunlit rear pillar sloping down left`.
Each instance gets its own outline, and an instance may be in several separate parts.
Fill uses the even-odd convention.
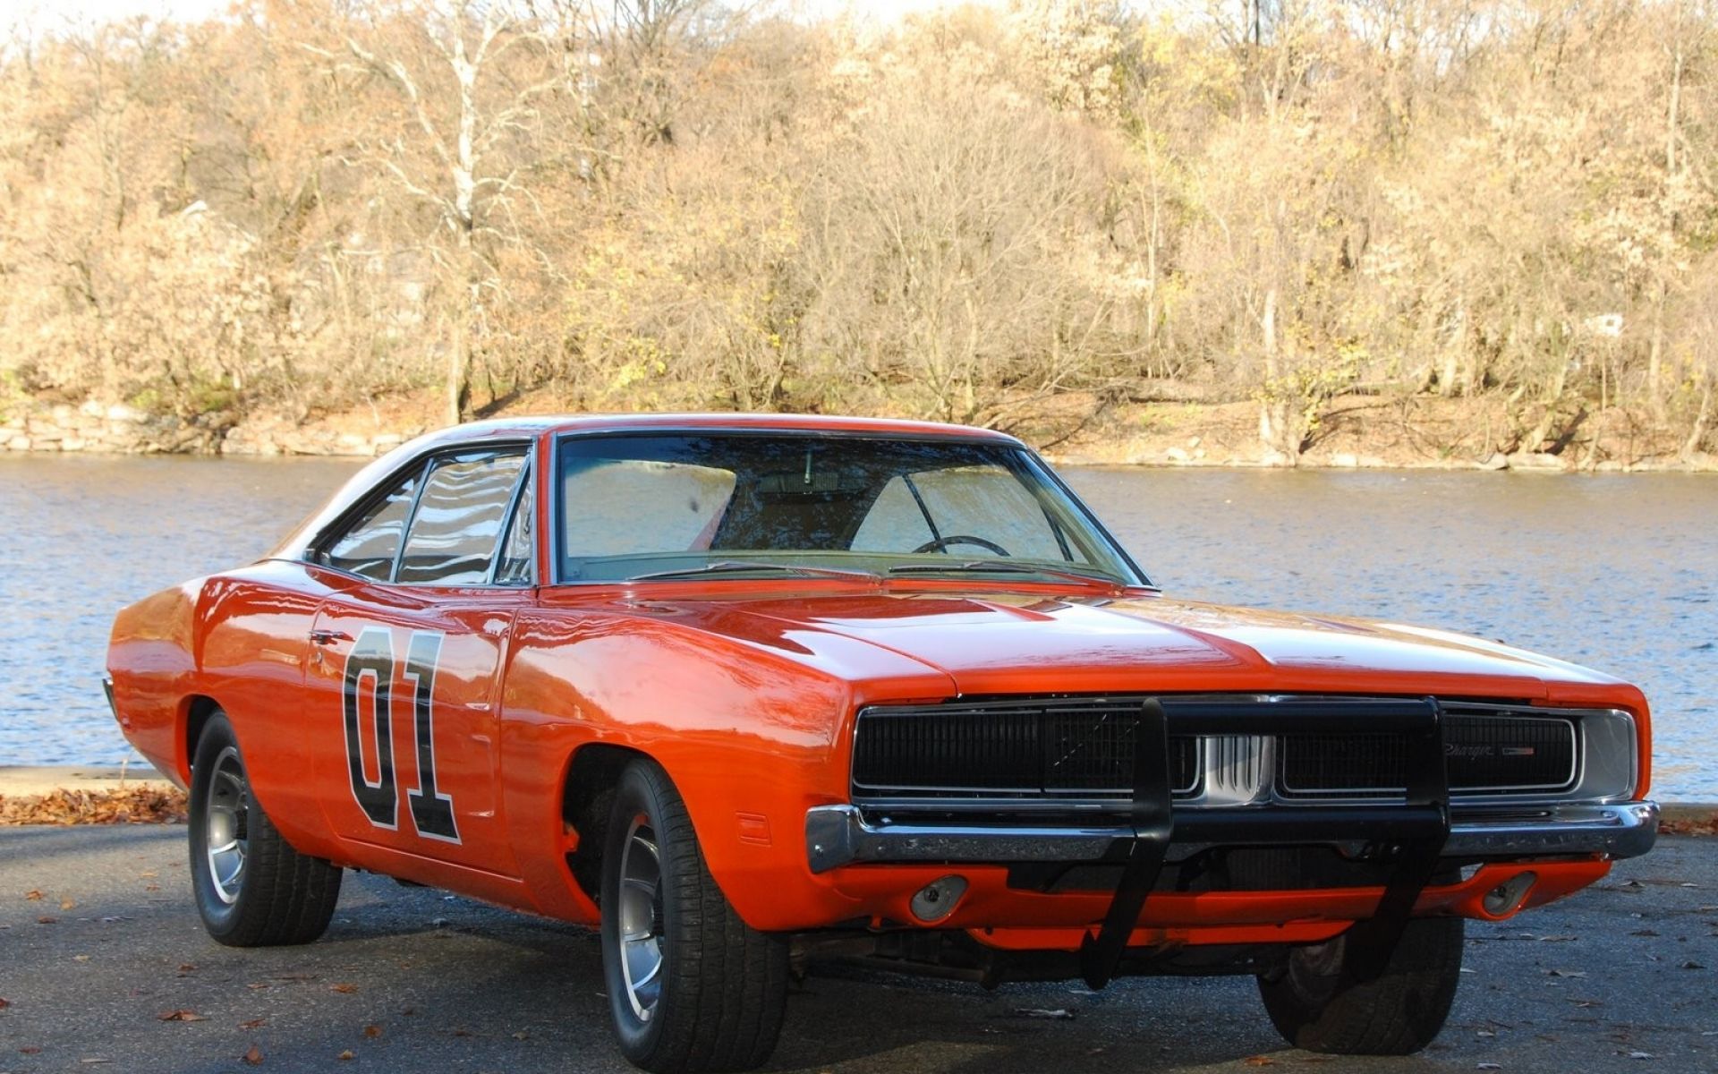
[[[270,558],[304,555],[306,548],[375,486],[407,466],[412,459],[466,443],[538,440],[565,433],[639,433],[639,431],[744,431],[744,433],[825,433],[830,436],[895,438],[966,438],[998,443],[1020,442],[1007,433],[967,424],[907,421],[897,418],[838,418],[830,414],[546,414],[467,421],[424,433],[381,455],[357,471],[333,497],[270,553]]]

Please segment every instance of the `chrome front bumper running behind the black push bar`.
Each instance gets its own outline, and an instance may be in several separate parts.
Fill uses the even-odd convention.
[[[1338,816],[1340,815],[1340,816]],[[1359,816],[1357,816],[1359,815]],[[1368,816],[1369,815],[1369,816]],[[1299,828],[1306,844],[1359,847],[1390,839],[1398,811],[1263,808],[1201,809],[1175,815],[1172,847],[1285,842]],[[1356,823],[1356,821],[1361,823]],[[868,863],[1019,863],[1103,861],[1132,844],[1125,823],[1041,827],[959,823],[871,823],[856,806],[816,806],[806,813],[806,856],[813,873]],[[1637,857],[1658,839],[1658,802],[1553,804],[1508,811],[1459,811],[1443,857],[1524,859],[1551,856]]]

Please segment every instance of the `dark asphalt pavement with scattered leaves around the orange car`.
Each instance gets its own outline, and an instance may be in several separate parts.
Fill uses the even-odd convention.
[[[306,947],[211,942],[182,827],[0,828],[0,1072],[629,1071],[596,937],[347,873]],[[1572,899],[1469,924],[1443,1034],[1287,1048],[1246,978],[976,985],[814,973],[771,1071],[1718,1072],[1718,840],[1666,837]]]

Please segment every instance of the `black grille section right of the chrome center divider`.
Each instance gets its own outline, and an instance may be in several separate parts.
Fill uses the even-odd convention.
[[[1288,796],[1385,797],[1407,782],[1397,735],[1285,735],[1280,751]],[[1575,780],[1575,729],[1558,718],[1452,713],[1443,758],[1452,794],[1563,790]]]

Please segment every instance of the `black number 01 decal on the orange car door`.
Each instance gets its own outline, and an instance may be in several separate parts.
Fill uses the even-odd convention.
[[[417,739],[417,789],[409,790],[412,827],[426,839],[459,842],[454,799],[435,785],[435,667],[442,656],[442,634],[412,631],[405,646],[405,679],[412,682],[412,730]],[[345,658],[345,760],[352,773],[352,797],[378,828],[399,830],[400,796],[393,778],[393,631],[364,627]],[[369,723],[376,739],[376,780],[364,775],[364,727],[359,708],[361,686],[373,680]]]

